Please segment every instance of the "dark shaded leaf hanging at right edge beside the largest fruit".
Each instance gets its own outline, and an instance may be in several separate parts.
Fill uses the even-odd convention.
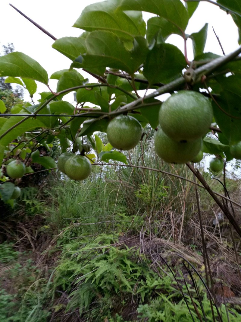
[[[216,98],[219,106],[212,102],[215,121],[230,145],[241,141],[241,75],[217,78],[222,87],[220,96]],[[230,117],[224,112],[233,116]]]

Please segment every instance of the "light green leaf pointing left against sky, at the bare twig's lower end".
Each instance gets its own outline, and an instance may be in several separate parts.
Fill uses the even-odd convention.
[[[72,61],[75,60],[80,54],[86,52],[85,38],[83,37],[63,37],[57,39],[52,44],[52,47]]]

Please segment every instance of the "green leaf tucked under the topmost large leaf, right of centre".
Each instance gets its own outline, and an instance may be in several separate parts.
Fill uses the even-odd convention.
[[[162,17],[152,17],[147,21],[147,41],[149,43],[158,34],[160,35],[160,37],[157,37],[159,39],[158,43],[163,43],[163,40],[173,33],[183,36],[181,30],[175,24]]]

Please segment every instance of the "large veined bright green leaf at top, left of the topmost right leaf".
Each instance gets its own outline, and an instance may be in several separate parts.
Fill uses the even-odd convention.
[[[103,1],[88,5],[82,11],[74,27],[86,31],[107,30],[121,39],[132,40],[145,35],[146,24],[140,12],[123,12],[118,9],[120,1]]]

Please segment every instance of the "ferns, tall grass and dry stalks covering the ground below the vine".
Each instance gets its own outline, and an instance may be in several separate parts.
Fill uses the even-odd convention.
[[[227,220],[198,187],[207,280],[192,174],[158,159],[151,140],[126,155],[137,166],[99,163],[84,182],[50,174],[22,189],[1,225],[2,321],[240,321]],[[226,179],[237,204],[238,185]]]

